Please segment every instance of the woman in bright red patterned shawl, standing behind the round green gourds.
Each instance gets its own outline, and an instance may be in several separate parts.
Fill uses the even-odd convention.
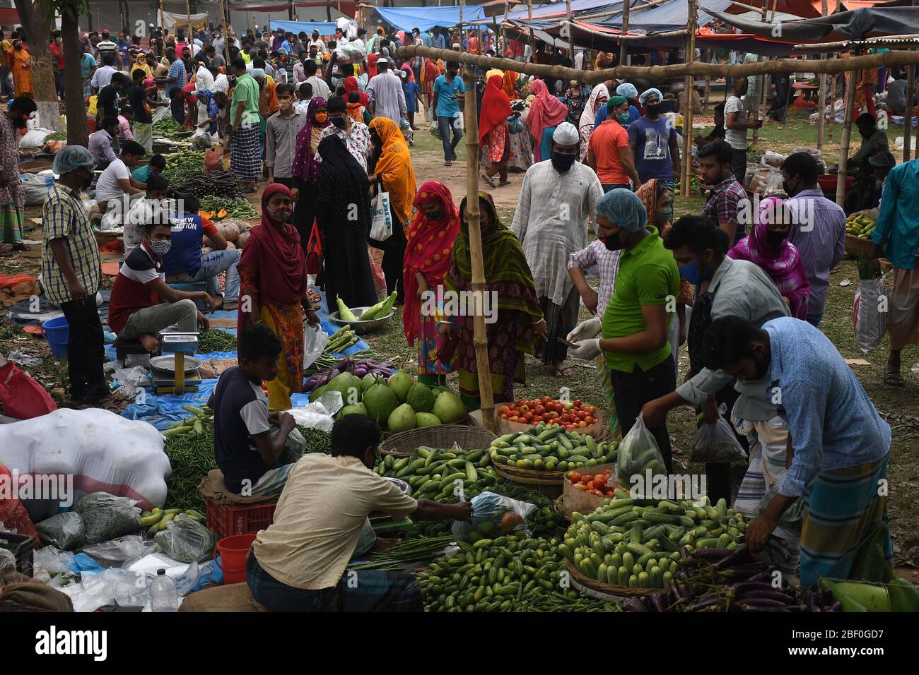
[[[438,312],[431,311],[435,301],[422,294],[431,291],[437,296],[437,288],[443,286],[459,232],[459,210],[448,187],[437,181],[421,186],[414,208],[405,231],[403,332],[410,345],[418,341],[418,381],[445,385],[452,368],[437,360]]]

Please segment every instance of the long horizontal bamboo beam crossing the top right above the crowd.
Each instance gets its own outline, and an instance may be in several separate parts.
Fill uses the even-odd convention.
[[[615,38],[614,38],[615,39]],[[444,61],[458,61],[483,68],[498,68],[505,71],[515,71],[538,77],[553,77],[561,80],[577,80],[595,84],[613,79],[629,79],[641,77],[652,82],[671,77],[724,77],[730,75],[734,79],[749,75],[763,75],[771,73],[827,73],[837,75],[846,71],[857,71],[865,68],[883,68],[897,65],[919,64],[919,51],[884,51],[879,54],[867,54],[847,59],[828,59],[826,61],[802,61],[800,59],[777,59],[752,63],[675,63],[674,65],[652,66],[616,66],[599,71],[579,71],[575,68],[566,68],[560,65],[540,65],[538,63],[521,63],[512,59],[503,59],[481,54],[459,53],[452,50],[437,50],[433,47],[419,45],[406,45],[396,49],[399,58],[423,56]]]

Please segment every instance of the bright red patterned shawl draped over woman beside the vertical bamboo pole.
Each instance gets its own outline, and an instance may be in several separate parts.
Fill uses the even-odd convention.
[[[424,204],[440,204],[446,218],[434,221],[421,210]],[[453,203],[449,188],[437,181],[428,181],[414,197],[414,219],[405,230],[405,256],[403,258],[403,332],[409,344],[414,344],[419,333],[421,302],[418,299],[418,282],[415,275],[421,272],[427,285],[437,293],[444,283],[453,256],[453,241],[459,232],[459,209]],[[248,245],[248,242],[246,242]]]

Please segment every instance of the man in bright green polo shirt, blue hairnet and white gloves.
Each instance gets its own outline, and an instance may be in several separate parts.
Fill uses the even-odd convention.
[[[605,375],[623,435],[649,400],[676,388],[670,351],[680,275],[657,229],[648,225],[641,199],[631,190],[610,190],[596,204],[597,236],[610,251],[621,251],[616,286],[606,312],[584,321],[568,336],[578,340],[575,358],[604,355]],[[600,335],[600,337],[596,337]],[[649,427],[667,472],[672,472],[666,422]]]

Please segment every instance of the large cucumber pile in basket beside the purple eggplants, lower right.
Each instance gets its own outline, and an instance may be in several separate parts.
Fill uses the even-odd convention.
[[[594,512],[572,513],[559,552],[591,579],[633,589],[667,588],[682,559],[681,546],[740,546],[743,515],[723,499],[711,506],[704,497],[701,504],[664,500],[642,506],[626,490],[617,490],[616,499]]]

